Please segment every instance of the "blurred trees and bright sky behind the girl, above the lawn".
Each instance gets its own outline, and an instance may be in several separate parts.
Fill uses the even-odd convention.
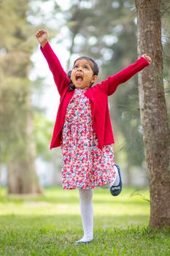
[[[166,4],[162,42],[169,110]],[[99,80],[104,80],[138,58],[136,8],[133,0],[6,0],[0,1],[0,20],[0,184],[9,193],[41,192],[61,184],[61,149],[49,150],[59,96],[35,32],[47,29],[66,71],[85,54],[98,61]],[[109,97],[109,110],[123,184],[147,187],[137,76]]]

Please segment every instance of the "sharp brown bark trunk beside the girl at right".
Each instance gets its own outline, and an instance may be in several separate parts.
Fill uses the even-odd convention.
[[[160,0],[136,0],[139,56],[152,64],[139,74],[139,104],[150,183],[150,227],[170,226],[170,133],[163,89]]]

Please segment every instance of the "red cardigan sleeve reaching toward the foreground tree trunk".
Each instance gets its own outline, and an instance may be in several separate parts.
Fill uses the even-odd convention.
[[[147,59],[140,57],[134,62],[134,64],[125,67],[125,69],[117,72],[115,75],[110,76],[107,78],[107,80],[102,81],[99,86],[108,96],[112,95],[116,91],[117,86],[119,86],[121,83],[125,83],[133,75],[144,69],[144,67],[147,67],[149,64],[150,63],[147,61]]]

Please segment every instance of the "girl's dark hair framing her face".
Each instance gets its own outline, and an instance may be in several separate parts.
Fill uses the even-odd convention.
[[[74,61],[74,64],[76,63],[76,61],[78,60],[81,60],[81,59],[86,59],[87,61],[90,61],[92,62],[92,65],[91,65],[91,68],[93,70],[93,75],[98,75],[98,72],[99,72],[99,68],[98,68],[98,64],[96,63],[96,61],[94,61],[91,57],[89,56],[81,56],[79,58],[77,58],[75,61]],[[74,67],[74,65],[73,65]],[[75,89],[75,86],[74,86],[74,83],[72,83],[72,80],[71,80],[71,74],[72,74],[72,70],[69,70],[69,72],[67,72],[67,76],[68,78],[70,78],[70,83],[69,83],[69,89],[68,91],[74,91]],[[90,84],[90,87],[93,85],[93,83]]]

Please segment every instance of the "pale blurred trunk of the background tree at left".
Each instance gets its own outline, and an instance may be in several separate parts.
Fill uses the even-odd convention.
[[[35,144],[32,138],[33,121],[31,116],[31,99],[27,95],[26,114],[23,122],[25,132],[23,133],[23,145],[15,148],[8,164],[8,194],[37,194],[42,193],[42,187],[39,184],[39,177],[36,174],[35,167]],[[18,113],[20,114],[20,113]]]

